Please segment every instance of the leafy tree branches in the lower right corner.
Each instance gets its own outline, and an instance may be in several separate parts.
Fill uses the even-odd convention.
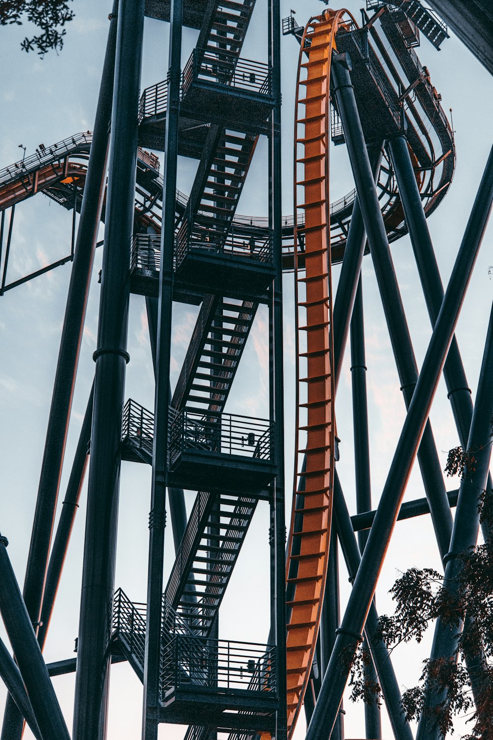
[[[462,473],[463,465],[458,472]],[[480,496],[480,519],[493,525],[493,491]],[[471,733],[463,740],[493,740],[493,543],[486,542],[458,556],[460,568],[452,582],[431,568],[410,568],[390,590],[395,613],[381,616],[375,639],[392,650],[396,645],[416,640],[440,618],[445,628],[457,635],[452,659],[426,660],[418,686],[402,696],[407,719],[420,719],[424,713],[438,723],[442,736],[453,733],[453,719],[469,714]],[[466,669],[466,656],[469,659]],[[472,660],[471,660],[472,658]],[[351,699],[373,703],[382,698],[378,682],[368,682],[364,669],[370,660],[360,646],[351,668]],[[472,698],[475,685],[476,702]],[[425,687],[443,702],[425,705]]]

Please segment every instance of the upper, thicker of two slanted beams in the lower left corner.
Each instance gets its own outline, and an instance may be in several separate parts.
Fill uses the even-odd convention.
[[[0,536],[0,612],[16,653],[18,668],[26,687],[43,740],[70,740],[55,690],[41,655],[31,619],[18,587],[7,538]]]

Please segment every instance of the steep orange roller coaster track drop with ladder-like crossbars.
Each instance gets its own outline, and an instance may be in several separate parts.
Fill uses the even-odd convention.
[[[295,258],[298,437],[286,564],[288,590],[294,589],[287,625],[289,736],[302,707],[315,653],[330,541],[335,444],[330,330],[330,60],[336,50],[337,30],[347,27],[344,16],[348,16],[344,10],[327,10],[310,19],[303,33],[296,84],[295,214],[300,209],[305,212],[305,268],[299,268]],[[297,202],[298,192],[303,193],[302,203]],[[298,466],[305,456],[302,476]],[[301,489],[300,480],[304,481]],[[302,528],[295,531],[301,517]]]

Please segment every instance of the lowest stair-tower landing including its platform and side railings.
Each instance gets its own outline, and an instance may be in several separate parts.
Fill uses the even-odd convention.
[[[143,681],[146,605],[121,589],[112,609],[112,652],[123,655]],[[279,706],[276,649],[251,642],[206,639],[163,597],[160,722],[218,730],[270,732]]]

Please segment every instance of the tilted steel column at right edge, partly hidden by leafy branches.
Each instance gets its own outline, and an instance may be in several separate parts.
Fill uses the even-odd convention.
[[[475,467],[467,471],[466,477],[460,482],[459,497],[457,502],[457,511],[455,512],[454,526],[452,529],[452,538],[450,540],[449,552],[445,557],[445,577],[443,588],[450,588],[452,591],[457,589],[457,580],[463,563],[460,560],[460,554],[465,553],[470,548],[474,548],[477,542],[477,533],[479,529],[479,505],[480,495],[486,486],[488,477],[489,461],[492,455],[492,416],[493,416],[493,308],[490,314],[488,334],[483,354],[483,363],[481,365],[479,383],[477,385],[475,410],[472,414],[471,431],[469,432],[468,449],[475,450]],[[457,627],[448,627],[443,625],[439,618],[435,625],[435,634],[433,636],[432,653],[430,659],[437,660],[440,658],[449,660],[453,659],[458,643]],[[471,670],[472,668],[472,670]],[[481,688],[477,687],[479,675],[475,675],[478,670],[481,673],[481,665],[475,665],[468,660],[468,670],[475,693],[477,710],[481,712],[481,704],[478,702],[483,693]],[[446,704],[446,693],[435,693],[426,687],[424,713],[421,715],[421,721],[418,725],[416,740],[440,740],[442,737],[438,727],[436,713],[433,711],[436,704]],[[427,714],[426,710],[432,710]]]

